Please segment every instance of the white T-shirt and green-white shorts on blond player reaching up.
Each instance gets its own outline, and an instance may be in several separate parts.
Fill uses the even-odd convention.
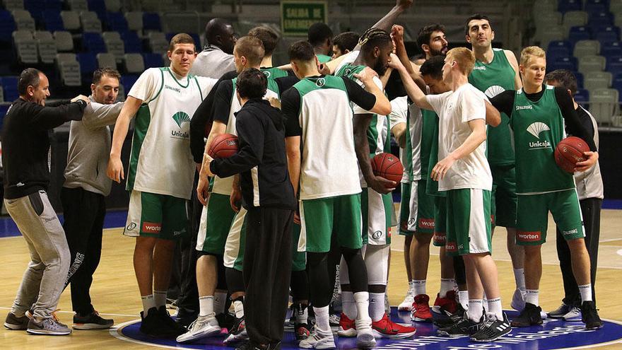
[[[467,83],[440,95],[426,95],[439,116],[438,158],[444,159],[471,134],[469,122],[486,119],[486,95]],[[491,252],[490,192],[492,176],[486,160],[486,143],[454,161],[438,183],[447,192],[447,243],[449,255]]]

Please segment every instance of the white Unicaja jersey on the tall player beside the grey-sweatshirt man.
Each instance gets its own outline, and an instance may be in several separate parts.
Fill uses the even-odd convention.
[[[190,199],[190,119],[214,84],[214,78],[181,77],[168,67],[141,74],[128,93],[143,101],[136,112],[128,190]]]

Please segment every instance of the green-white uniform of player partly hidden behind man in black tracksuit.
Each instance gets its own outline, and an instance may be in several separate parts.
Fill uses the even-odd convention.
[[[228,114],[226,117],[227,126],[225,128],[225,134],[237,135],[235,130],[235,113],[239,111],[242,106],[240,101],[237,100],[235,82],[237,78],[233,78],[230,82],[224,81],[218,87],[219,91],[223,88],[230,88],[227,93],[228,97]],[[231,84],[231,86],[229,86]],[[268,79],[268,90],[266,91],[266,98],[278,98],[278,87],[274,79]],[[214,113],[225,113],[223,100],[218,99],[214,101]],[[214,115],[214,120],[224,122],[222,115]],[[218,176],[213,177],[211,183],[211,193],[206,206],[204,206],[201,212],[201,223],[199,225],[199,235],[196,240],[196,250],[202,252],[208,252],[216,255],[223,255],[225,267],[234,267],[237,260],[240,260],[236,266],[242,267],[242,254],[244,252],[241,247],[244,241],[244,226],[245,210],[240,210],[237,214],[231,209],[229,197],[231,189],[233,187],[233,176],[221,178]],[[230,238],[228,238],[230,236]]]

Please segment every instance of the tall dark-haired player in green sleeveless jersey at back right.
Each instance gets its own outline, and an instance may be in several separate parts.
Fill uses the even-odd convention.
[[[518,73],[518,62],[514,52],[507,49],[493,49],[495,32],[488,17],[479,13],[467,18],[464,26],[467,42],[475,54],[475,67],[469,74],[469,83],[493,98],[505,90],[522,88]],[[510,304],[515,310],[524,308],[524,250],[516,244],[516,173],[514,149],[507,115],[501,115],[498,127],[489,127],[488,164],[493,174],[491,192],[491,218],[494,226],[507,230],[507,252],[512,259],[516,289]],[[494,228],[493,228],[494,231]]]

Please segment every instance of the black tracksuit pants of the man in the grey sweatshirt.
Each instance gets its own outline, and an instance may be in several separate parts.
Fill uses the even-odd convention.
[[[102,231],[106,204],[104,196],[81,187],[61,189],[63,228],[71,252],[68,279],[71,283],[71,305],[74,312],[93,313],[90,285],[102,255]]]

